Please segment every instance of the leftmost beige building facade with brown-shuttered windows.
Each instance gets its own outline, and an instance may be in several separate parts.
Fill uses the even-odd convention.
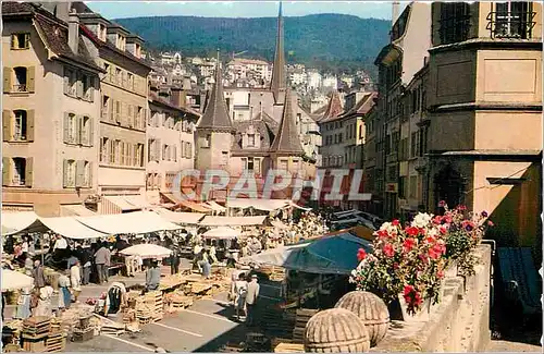
[[[3,209],[73,215],[98,188],[97,49],[69,4],[2,3]]]

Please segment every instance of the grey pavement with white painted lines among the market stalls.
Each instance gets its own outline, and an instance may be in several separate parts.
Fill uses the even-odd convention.
[[[169,274],[170,267],[162,267],[162,273]],[[124,281],[127,286],[145,283],[145,273],[134,278],[110,277],[109,283]],[[108,290],[108,284],[89,284],[82,289],[79,302],[88,297],[99,297]],[[263,302],[275,301],[279,288],[261,283]],[[53,298],[53,306],[57,304]],[[15,306],[7,306],[9,318]],[[114,319],[110,317],[110,319]],[[162,347],[168,352],[217,352],[226,343],[239,343],[247,332],[244,322],[234,319],[234,309],[227,302],[227,294],[220,293],[213,298],[196,301],[189,308],[164,314],[158,322],[141,326],[138,333],[124,333],[119,337],[101,334],[87,342],[69,342],[66,352],[154,352]]]

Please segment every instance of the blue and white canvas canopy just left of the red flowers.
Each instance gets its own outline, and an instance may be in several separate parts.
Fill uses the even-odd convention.
[[[347,232],[265,251],[244,257],[240,261],[279,266],[310,273],[350,274],[358,266],[359,248],[370,253],[371,243]]]

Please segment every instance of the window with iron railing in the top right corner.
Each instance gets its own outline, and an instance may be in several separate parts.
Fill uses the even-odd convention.
[[[495,2],[495,24],[493,25],[493,13],[487,20],[492,38],[520,38],[529,39],[532,36],[532,28],[535,13],[532,12],[532,4],[521,1]]]

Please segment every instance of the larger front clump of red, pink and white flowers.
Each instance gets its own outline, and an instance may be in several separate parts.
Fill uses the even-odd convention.
[[[424,314],[423,308],[429,309],[440,301],[446,266],[446,232],[428,213],[418,213],[406,227],[398,220],[385,222],[375,233],[372,254],[359,251],[361,263],[350,281],[359,290],[376,293],[386,303],[398,301],[405,320],[416,319]]]

